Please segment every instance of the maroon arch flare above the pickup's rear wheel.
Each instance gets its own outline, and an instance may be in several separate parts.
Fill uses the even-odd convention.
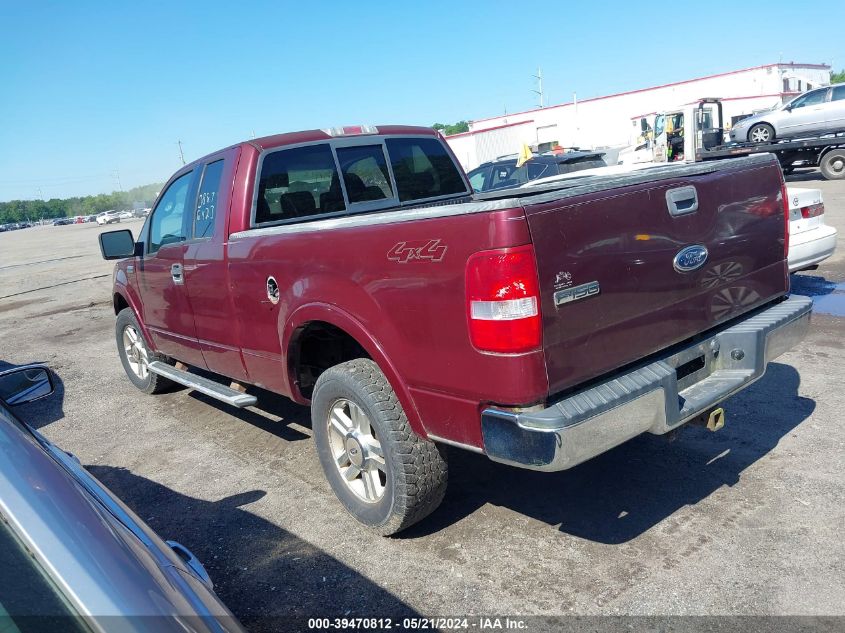
[[[425,432],[410,390],[379,340],[358,319],[331,304],[311,303],[301,306],[290,315],[285,324],[282,332],[282,350],[284,350],[286,359],[291,397],[300,404],[307,404],[310,401],[309,394],[303,393],[299,384],[302,344],[309,328],[322,324],[335,328],[349,337],[365,352],[366,357],[378,365],[405,410],[411,428],[417,435],[427,438],[428,435]]]

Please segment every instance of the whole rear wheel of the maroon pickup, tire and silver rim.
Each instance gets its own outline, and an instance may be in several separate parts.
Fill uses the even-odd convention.
[[[323,372],[311,419],[326,479],[358,521],[388,536],[440,505],[448,479],[445,455],[414,433],[373,361],[356,359]]]

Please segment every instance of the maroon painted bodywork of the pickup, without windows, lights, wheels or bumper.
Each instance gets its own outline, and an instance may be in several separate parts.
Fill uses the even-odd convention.
[[[378,132],[438,137],[404,126]],[[710,163],[695,173],[594,190],[512,190],[498,200],[462,194],[409,209],[251,228],[262,152],[331,138],[315,130],[256,139],[174,175],[171,182],[225,160],[213,237],[118,264],[115,292],[126,295],[153,348],[307,403],[294,367],[298,337],[305,326],[326,323],[379,365],[418,434],[481,448],[483,408],[543,404],[787,290],[773,160]],[[665,191],[688,185],[699,192],[699,211],[670,217]],[[706,246],[711,259],[679,274],[673,258],[689,244]],[[467,261],[479,251],[523,245],[536,254],[542,344],[518,354],[479,351],[468,335]],[[437,257],[401,255],[429,247]],[[176,263],[183,285],[168,282]],[[275,304],[270,277],[279,287]],[[600,294],[556,305],[559,287],[593,280]],[[719,294],[735,287],[748,293],[737,300]]]

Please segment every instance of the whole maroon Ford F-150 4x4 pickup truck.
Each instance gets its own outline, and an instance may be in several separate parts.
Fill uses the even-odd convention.
[[[310,404],[349,512],[434,510],[444,444],[563,470],[718,405],[805,334],[769,155],[473,194],[436,132],[246,141],[100,236],[129,379]],[[199,373],[198,373],[199,372]]]

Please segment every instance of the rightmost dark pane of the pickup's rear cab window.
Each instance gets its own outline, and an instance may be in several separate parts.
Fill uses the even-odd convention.
[[[466,192],[452,157],[436,138],[391,138],[385,143],[400,201]]]

